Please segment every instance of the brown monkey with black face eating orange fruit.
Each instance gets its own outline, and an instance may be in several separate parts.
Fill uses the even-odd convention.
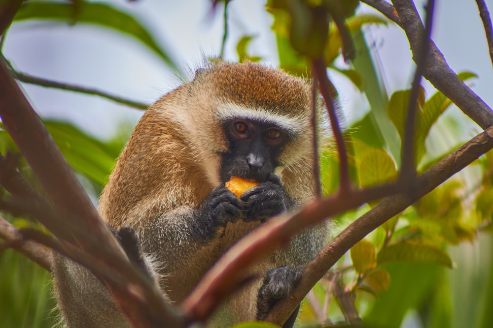
[[[239,239],[315,198],[311,84],[252,62],[205,66],[146,110],[99,204],[124,248],[125,236],[135,233],[141,263],[176,305]],[[323,107],[317,101],[317,125]],[[231,177],[258,184],[237,197],[224,185]],[[263,319],[296,286],[328,230],[327,224],[303,230],[252,266],[248,273],[257,278],[218,311],[211,327]],[[54,290],[68,327],[129,325],[105,287],[60,256]]]

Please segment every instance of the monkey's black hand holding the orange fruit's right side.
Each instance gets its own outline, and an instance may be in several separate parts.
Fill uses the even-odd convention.
[[[286,210],[286,193],[281,179],[274,174],[243,193],[241,200],[246,203],[246,222],[265,221]]]

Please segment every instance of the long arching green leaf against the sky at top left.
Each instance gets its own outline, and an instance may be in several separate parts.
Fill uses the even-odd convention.
[[[61,21],[69,24],[90,24],[133,37],[157,54],[171,68],[178,69],[169,54],[156,42],[152,34],[135,17],[105,3],[78,0],[77,4],[59,1],[24,2],[14,22],[26,20]]]

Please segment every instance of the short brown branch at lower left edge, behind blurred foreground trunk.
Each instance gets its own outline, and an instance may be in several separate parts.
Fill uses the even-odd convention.
[[[5,241],[2,245],[15,249],[40,267],[51,272],[53,266],[51,251],[35,241],[24,240],[19,230],[1,216],[0,238]],[[0,248],[3,248],[2,245]]]

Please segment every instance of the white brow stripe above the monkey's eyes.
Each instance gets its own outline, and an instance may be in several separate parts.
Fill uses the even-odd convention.
[[[228,119],[250,119],[267,124],[274,124],[284,129],[288,134],[294,136],[301,133],[306,125],[300,118],[288,117],[269,112],[263,108],[247,108],[235,104],[224,104],[219,106],[216,111],[219,120]]]

